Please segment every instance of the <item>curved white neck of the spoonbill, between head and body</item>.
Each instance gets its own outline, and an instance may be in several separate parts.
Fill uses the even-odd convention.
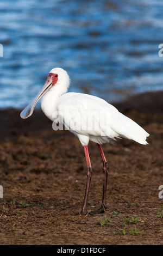
[[[48,92],[42,97],[41,109],[43,113],[53,121],[53,113],[57,110],[57,101],[59,97],[67,93],[70,82],[55,84]]]

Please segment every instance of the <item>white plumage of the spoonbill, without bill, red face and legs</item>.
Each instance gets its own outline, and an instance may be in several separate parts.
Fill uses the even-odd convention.
[[[149,134],[105,100],[88,94],[66,93],[70,80],[65,72],[59,68],[50,72],[63,74],[64,79],[60,84],[58,80],[56,87],[52,87],[42,98],[41,108],[49,119],[54,121],[55,115],[58,114],[60,123],[63,121],[66,128],[79,138],[82,145],[87,145],[89,141],[103,144],[113,138],[128,138],[140,144],[147,144],[146,138]],[[102,117],[105,120],[102,120]],[[91,128],[92,122],[98,123],[99,130],[76,130],[76,127],[71,126],[76,123],[77,127],[82,124]]]

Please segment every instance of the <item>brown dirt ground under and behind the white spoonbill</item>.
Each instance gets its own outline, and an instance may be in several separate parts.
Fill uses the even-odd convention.
[[[80,216],[86,162],[69,131],[53,131],[40,110],[27,120],[17,109],[0,113],[1,245],[162,245],[163,93],[133,96],[114,105],[140,124],[148,145],[127,139],[104,144],[109,163],[102,214],[103,171],[97,145],[89,144],[93,167],[87,216]]]

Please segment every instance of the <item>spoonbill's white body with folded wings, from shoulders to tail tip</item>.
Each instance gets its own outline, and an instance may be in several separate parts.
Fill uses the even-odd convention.
[[[149,134],[141,126],[99,97],[66,93],[57,102],[57,112],[66,128],[77,135],[82,144],[85,137],[100,144],[123,137],[147,144]]]

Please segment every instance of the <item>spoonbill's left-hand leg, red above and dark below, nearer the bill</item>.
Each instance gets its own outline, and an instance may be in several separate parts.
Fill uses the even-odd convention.
[[[90,182],[91,182],[91,176],[92,176],[92,167],[91,167],[91,161],[90,161],[90,156],[89,156],[89,151],[87,149],[87,146],[84,146],[84,152],[85,152],[86,163],[87,163],[87,171],[86,171],[87,182],[86,182],[86,188],[85,188],[85,197],[84,197],[83,207],[82,207],[82,211],[80,212],[81,215],[87,214],[86,205],[87,205],[87,198],[89,194],[89,188],[90,188]]]

